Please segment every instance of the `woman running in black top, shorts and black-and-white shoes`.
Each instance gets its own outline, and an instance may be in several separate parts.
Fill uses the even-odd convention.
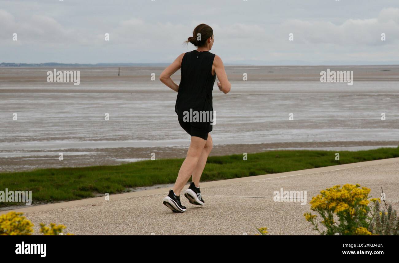
[[[205,204],[199,190],[199,179],[212,150],[212,138],[209,134],[212,131],[212,119],[210,117],[198,120],[188,114],[205,112],[207,116],[214,116],[212,90],[216,76],[219,79],[217,87],[223,93],[227,94],[231,89],[221,58],[209,52],[214,42],[212,28],[206,24],[198,25],[194,28],[193,36],[186,41],[187,44],[188,42],[198,48],[182,53],[160,75],[160,81],[178,93],[175,105],[178,121],[191,136],[190,147],[180,167],[176,183],[163,200],[163,204],[173,212],[186,211],[186,207],[180,202],[180,192],[191,176],[192,182],[184,196],[191,204]],[[170,78],[178,69],[182,73],[180,85]]]

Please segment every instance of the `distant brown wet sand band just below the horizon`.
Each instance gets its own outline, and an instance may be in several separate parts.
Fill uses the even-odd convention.
[[[57,71],[81,71],[81,85],[90,83],[137,83],[150,81],[151,73],[156,79],[165,67],[57,67]],[[355,81],[399,81],[399,65],[378,66],[229,66],[226,67],[229,81],[242,81],[243,73],[248,74],[248,81],[318,81],[320,72],[329,68],[331,71],[354,71]],[[53,67],[0,67],[0,84],[18,85],[21,83],[46,83],[46,72]],[[172,79],[180,81],[180,71]],[[68,83],[58,83],[69,86]],[[76,89],[79,86],[75,87]],[[53,91],[54,92],[54,91]],[[57,90],[55,92],[63,92]]]

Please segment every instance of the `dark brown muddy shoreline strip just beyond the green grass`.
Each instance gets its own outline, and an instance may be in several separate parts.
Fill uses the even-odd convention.
[[[214,144],[209,156],[259,153],[273,150],[369,150],[397,147],[399,141],[336,141],[336,142],[274,142],[254,144]],[[0,172],[20,172],[45,168],[72,168],[86,166],[119,165],[148,160],[151,153],[156,159],[185,158],[189,146],[68,148],[48,150],[0,150]],[[59,152],[64,160],[59,161]],[[14,154],[11,157],[1,157]]]

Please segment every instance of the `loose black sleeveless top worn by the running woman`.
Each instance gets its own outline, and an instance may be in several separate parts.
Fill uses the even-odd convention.
[[[212,90],[216,74],[212,75],[212,65],[215,54],[209,51],[193,50],[184,54],[180,71],[179,90],[177,93],[175,111],[180,119],[183,112],[213,111]],[[212,126],[208,125],[209,131]]]

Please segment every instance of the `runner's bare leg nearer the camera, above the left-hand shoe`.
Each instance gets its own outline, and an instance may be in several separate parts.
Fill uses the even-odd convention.
[[[201,158],[201,153],[206,142],[207,141],[203,138],[196,136],[191,137],[191,143],[187,151],[186,159],[184,160],[182,167],[180,167],[176,183],[173,187],[173,192],[176,194],[176,196],[180,196],[180,192],[183,190],[188,179],[190,179],[190,176],[192,175],[199,159]]]

